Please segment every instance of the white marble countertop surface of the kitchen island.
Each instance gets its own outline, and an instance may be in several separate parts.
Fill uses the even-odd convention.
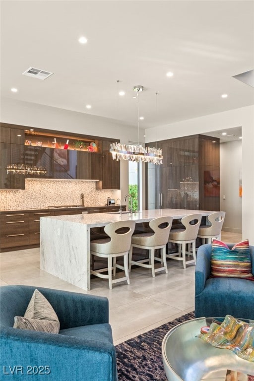
[[[189,209],[149,209],[142,210],[135,213],[91,213],[91,214],[73,214],[66,216],[52,216],[52,217],[41,217],[50,218],[66,222],[74,222],[79,224],[85,224],[89,228],[105,226],[110,222],[116,221],[128,221],[133,220],[135,222],[148,222],[156,217],[171,216],[173,219],[182,218],[190,214],[201,214],[202,216],[207,216],[212,213],[209,210],[189,210]]]

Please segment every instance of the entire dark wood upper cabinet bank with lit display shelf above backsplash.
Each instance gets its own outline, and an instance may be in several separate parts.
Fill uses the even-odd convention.
[[[120,162],[109,152],[116,141],[1,123],[0,189],[24,189],[25,178],[96,180],[98,190],[120,189]],[[23,172],[7,173],[12,164]]]

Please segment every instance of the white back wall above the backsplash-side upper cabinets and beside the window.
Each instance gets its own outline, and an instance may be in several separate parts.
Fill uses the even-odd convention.
[[[1,99],[0,116],[2,123],[116,138],[123,143],[136,141],[138,136],[137,127],[118,124],[114,119],[10,98]],[[139,128],[139,133],[142,143],[144,129]],[[128,193],[128,162],[124,160],[121,161],[121,193],[122,197]]]

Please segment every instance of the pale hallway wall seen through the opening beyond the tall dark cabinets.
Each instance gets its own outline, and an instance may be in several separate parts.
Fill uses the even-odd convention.
[[[239,197],[240,171],[242,171],[242,141],[221,143],[220,210],[226,212],[222,230],[235,233],[242,233],[242,198]],[[225,199],[223,199],[223,195]]]

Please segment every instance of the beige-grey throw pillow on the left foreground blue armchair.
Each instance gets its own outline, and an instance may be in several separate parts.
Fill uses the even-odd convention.
[[[35,289],[24,317],[15,316],[13,327],[59,333],[60,322],[53,307],[45,296]]]

